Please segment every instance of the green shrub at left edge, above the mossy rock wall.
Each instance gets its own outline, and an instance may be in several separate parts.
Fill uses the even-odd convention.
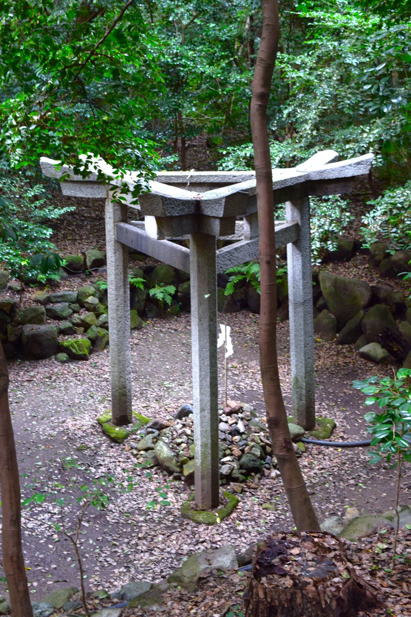
[[[57,278],[63,262],[50,241],[53,230],[44,223],[72,210],[47,202],[41,184],[31,187],[24,179],[0,178],[0,261],[12,276],[42,282]]]

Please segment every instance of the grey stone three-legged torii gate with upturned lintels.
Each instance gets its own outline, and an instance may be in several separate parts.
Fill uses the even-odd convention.
[[[338,162],[324,151],[297,167],[273,169],[275,204],[286,204],[286,220],[275,223],[277,247],[287,245],[290,307],[290,354],[293,415],[306,429],[314,428],[314,341],[312,315],[311,234],[309,196],[348,193],[358,176],[370,171],[373,155]],[[74,175],[59,162],[41,159],[44,175],[62,178],[62,193],[105,199],[108,280],[108,325],[112,418],[132,418],[128,247],[190,273],[192,375],[195,444],[195,501],[200,509],[219,503],[218,362],[216,273],[258,257],[258,219],[254,172],[162,172],[139,196],[144,221],[128,221],[128,205],[115,201],[115,189]],[[101,172],[111,168],[99,160]],[[123,181],[130,196],[137,174]],[[184,188],[182,188],[184,187]],[[189,235],[190,249],[171,239]],[[216,250],[216,239],[230,237]]]

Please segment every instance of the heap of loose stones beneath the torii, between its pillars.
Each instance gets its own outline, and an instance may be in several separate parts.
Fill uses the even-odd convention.
[[[304,429],[290,423],[291,437],[298,441]],[[175,479],[190,484],[194,474],[193,409],[185,404],[175,418],[152,420],[140,431],[140,439],[127,442],[137,463],[147,467],[161,466]],[[295,444],[301,453],[303,444]],[[230,400],[219,410],[219,462],[221,484],[229,484],[240,492],[241,483],[250,477],[278,474],[273,466],[271,441],[267,425],[258,418],[251,405]],[[237,486],[239,484],[239,486]]]

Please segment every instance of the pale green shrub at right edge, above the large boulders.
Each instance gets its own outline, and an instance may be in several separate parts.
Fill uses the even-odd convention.
[[[383,240],[391,252],[411,246],[411,181],[387,189],[378,199],[369,201],[373,208],[362,217],[364,246]]]

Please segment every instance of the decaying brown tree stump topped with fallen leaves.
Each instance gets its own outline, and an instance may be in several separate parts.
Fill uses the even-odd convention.
[[[355,617],[379,604],[336,536],[278,533],[254,559],[246,617]]]

